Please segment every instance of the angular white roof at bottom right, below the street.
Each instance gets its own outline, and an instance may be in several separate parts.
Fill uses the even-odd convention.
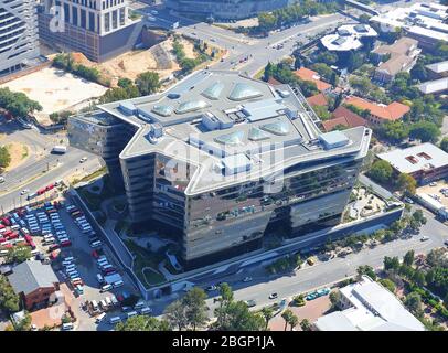
[[[319,318],[319,331],[425,331],[391,291],[367,276],[342,288],[341,295],[348,309]]]

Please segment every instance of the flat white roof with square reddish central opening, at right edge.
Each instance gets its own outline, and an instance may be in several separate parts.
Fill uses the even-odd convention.
[[[429,142],[380,153],[377,157],[390,162],[401,173],[410,174],[424,169],[448,165],[448,153]]]

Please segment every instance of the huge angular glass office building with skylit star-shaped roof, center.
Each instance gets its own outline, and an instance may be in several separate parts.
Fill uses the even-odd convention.
[[[131,221],[170,229],[192,268],[257,249],[271,229],[340,223],[371,130],[322,133],[303,101],[288,85],[200,71],[73,117],[68,136],[103,156]]]

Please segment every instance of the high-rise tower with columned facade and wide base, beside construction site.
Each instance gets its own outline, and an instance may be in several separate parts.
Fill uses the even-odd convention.
[[[128,0],[45,0],[39,13],[41,39],[103,62],[139,43],[142,23],[129,18]]]

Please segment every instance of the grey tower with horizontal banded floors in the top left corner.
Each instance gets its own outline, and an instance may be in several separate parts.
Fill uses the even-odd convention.
[[[0,77],[32,66],[39,54],[36,2],[0,1]]]

